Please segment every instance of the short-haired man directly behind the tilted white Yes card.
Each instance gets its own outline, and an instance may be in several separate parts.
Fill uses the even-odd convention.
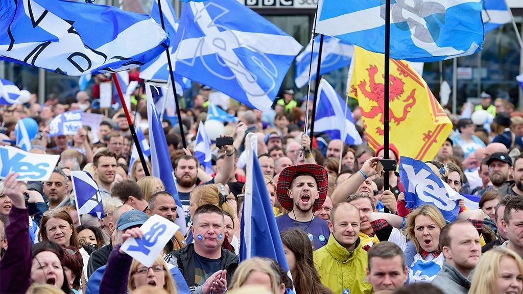
[[[149,217],[158,214],[158,216],[174,222],[177,217],[176,208],[176,202],[174,201],[173,195],[167,191],[158,191],[149,198],[149,203],[147,204],[145,212]],[[171,241],[172,242],[165,245],[167,249],[166,252],[179,250],[181,247],[186,245],[184,235],[180,233],[180,231],[174,233]]]

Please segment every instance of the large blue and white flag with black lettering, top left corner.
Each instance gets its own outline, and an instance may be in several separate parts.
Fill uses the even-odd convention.
[[[4,0],[0,15],[1,59],[65,75],[128,70],[169,44],[152,18],[113,6]]]

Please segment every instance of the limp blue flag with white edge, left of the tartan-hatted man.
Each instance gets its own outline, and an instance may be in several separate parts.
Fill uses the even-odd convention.
[[[260,256],[274,259],[285,271],[289,270],[276,218],[263,173],[256,157],[255,134],[247,135],[247,178],[245,202],[241,220],[240,262]]]

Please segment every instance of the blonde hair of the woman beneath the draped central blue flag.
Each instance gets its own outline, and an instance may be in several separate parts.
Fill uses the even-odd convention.
[[[234,272],[231,280],[231,287],[229,289],[233,290],[243,286],[245,281],[253,272],[267,274],[270,278],[271,293],[280,292],[281,281],[279,275],[275,272],[274,269],[272,269],[268,261],[265,261],[259,257],[245,259],[245,261],[240,263]]]

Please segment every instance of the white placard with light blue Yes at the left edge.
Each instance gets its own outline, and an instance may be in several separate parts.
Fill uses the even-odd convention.
[[[35,154],[11,146],[0,146],[0,179],[10,172],[17,180],[48,180],[60,155]]]

